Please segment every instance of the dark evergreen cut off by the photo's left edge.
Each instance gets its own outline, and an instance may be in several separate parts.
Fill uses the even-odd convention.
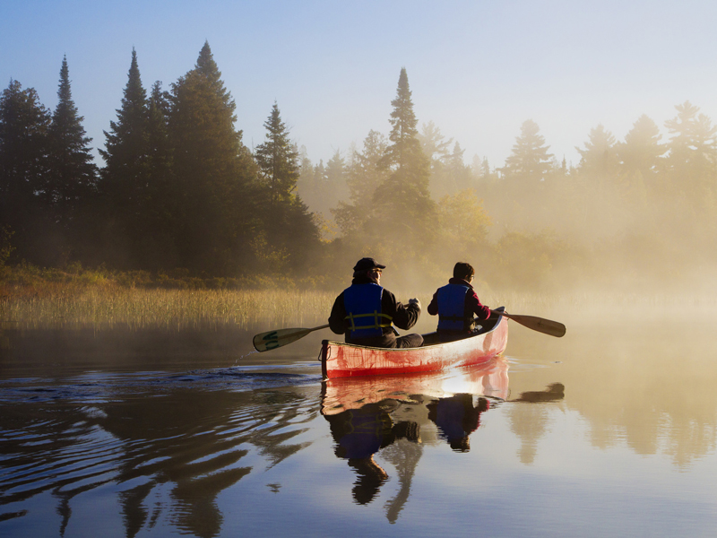
[[[16,255],[30,261],[44,219],[39,192],[48,174],[50,122],[37,91],[11,80],[0,97],[0,230],[13,234]]]

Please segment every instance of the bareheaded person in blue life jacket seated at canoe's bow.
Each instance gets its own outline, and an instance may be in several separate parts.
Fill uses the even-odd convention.
[[[428,314],[438,316],[436,332],[443,342],[473,334],[475,321],[490,317],[490,308],[482,305],[471,282],[475,270],[471,264],[458,262],[448,284],[438,288],[428,305]]]

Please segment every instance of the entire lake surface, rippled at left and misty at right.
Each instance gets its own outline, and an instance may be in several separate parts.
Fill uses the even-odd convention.
[[[328,383],[327,331],[6,330],[0,535],[713,536],[717,317],[667,314]]]

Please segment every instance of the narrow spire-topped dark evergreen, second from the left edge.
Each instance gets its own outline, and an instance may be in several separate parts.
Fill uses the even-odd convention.
[[[49,129],[49,173],[42,196],[53,208],[57,224],[68,230],[80,204],[95,192],[97,167],[88,145],[91,138],[82,126],[84,118],[72,98],[66,57],[60,69],[57,97]]]

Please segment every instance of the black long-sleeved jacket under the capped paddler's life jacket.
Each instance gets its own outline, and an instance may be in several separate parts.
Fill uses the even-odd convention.
[[[351,281],[351,285],[370,284],[375,281],[366,276],[358,276]],[[346,343],[356,343],[358,345],[368,345],[372,347],[395,347],[396,334],[393,327],[384,327],[383,336],[375,338],[354,338],[350,337],[349,320],[346,319],[346,308],[343,302],[343,291],[341,295],[333,301],[331,316],[329,317],[329,327],[335,334],[344,334]],[[395,295],[391,291],[384,288],[381,294],[381,311],[382,313],[393,317],[393,325],[403,330],[410,329],[419,321],[420,308],[419,305],[409,304],[403,305],[396,300]]]

